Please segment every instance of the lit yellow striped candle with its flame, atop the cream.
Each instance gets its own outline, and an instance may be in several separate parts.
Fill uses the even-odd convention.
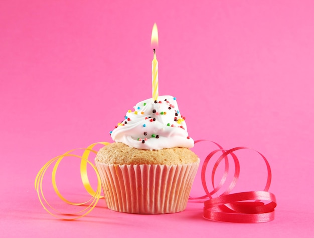
[[[151,32],[151,46],[158,46],[158,30],[154,24]],[[153,60],[151,62],[151,79],[152,79],[152,100],[158,100],[158,61],[156,59],[156,51],[153,49]]]

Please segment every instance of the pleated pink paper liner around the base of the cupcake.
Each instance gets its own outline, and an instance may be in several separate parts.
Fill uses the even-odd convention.
[[[183,211],[199,161],[180,165],[117,165],[96,162],[111,210],[161,214]]]

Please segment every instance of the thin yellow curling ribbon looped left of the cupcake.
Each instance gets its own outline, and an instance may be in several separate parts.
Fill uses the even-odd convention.
[[[42,204],[42,206],[44,207],[44,209],[48,213],[50,213],[53,216],[62,218],[62,219],[73,220],[73,219],[78,219],[80,217],[83,217],[83,216],[87,215],[89,212],[91,212],[94,209],[94,207],[96,206],[98,200],[100,198],[102,198],[103,196],[100,195],[100,193],[101,193],[100,176],[98,174],[98,171],[97,171],[95,165],[88,160],[88,157],[90,155],[90,152],[93,152],[94,154],[97,154],[97,151],[93,150],[93,148],[96,145],[108,145],[108,144],[110,144],[110,143],[108,143],[108,142],[98,142],[98,143],[91,144],[87,148],[80,148],[80,149],[70,150],[70,151],[64,153],[63,155],[59,155],[59,156],[49,160],[39,170],[39,172],[38,172],[38,174],[37,174],[37,176],[35,178],[35,189],[37,191],[40,203]],[[73,151],[76,151],[76,150],[84,150],[83,151],[83,155],[80,156],[80,155],[76,155],[76,154],[71,154]],[[83,183],[84,188],[86,189],[86,191],[92,196],[86,202],[82,202],[82,203],[71,202],[71,201],[67,200],[66,198],[64,198],[61,195],[61,193],[60,193],[60,191],[58,189],[57,182],[56,182],[56,173],[57,173],[57,169],[58,169],[58,166],[59,166],[61,160],[64,159],[65,157],[76,157],[76,158],[80,158],[81,159],[80,172],[81,172],[82,183]],[[53,170],[52,170],[52,185],[53,185],[53,188],[54,188],[56,194],[59,196],[60,199],[62,199],[63,201],[65,201],[66,203],[71,204],[71,205],[83,205],[83,204],[86,204],[86,203],[90,202],[90,204],[86,208],[84,208],[84,209],[82,209],[82,210],[80,210],[78,212],[75,212],[75,213],[66,213],[65,214],[64,212],[61,212],[61,211],[55,209],[53,206],[51,206],[48,203],[48,201],[46,200],[46,198],[44,196],[44,192],[43,192],[43,178],[44,178],[44,175],[45,175],[47,169],[49,168],[49,166],[51,166],[54,162],[55,162],[55,165],[54,165]],[[94,169],[94,171],[96,172],[97,184],[98,184],[96,191],[92,188],[92,186],[91,186],[91,184],[89,182],[88,175],[87,175],[87,164],[89,164]],[[48,205],[48,207],[50,207],[52,210],[54,210],[54,211],[56,211],[56,212],[58,212],[60,214],[72,215],[72,216],[74,215],[74,216],[68,218],[68,217],[64,217],[64,216],[60,216],[60,215],[54,214],[53,212],[51,212],[48,209],[48,207],[45,204]],[[85,212],[85,213],[81,214],[82,212]]]

